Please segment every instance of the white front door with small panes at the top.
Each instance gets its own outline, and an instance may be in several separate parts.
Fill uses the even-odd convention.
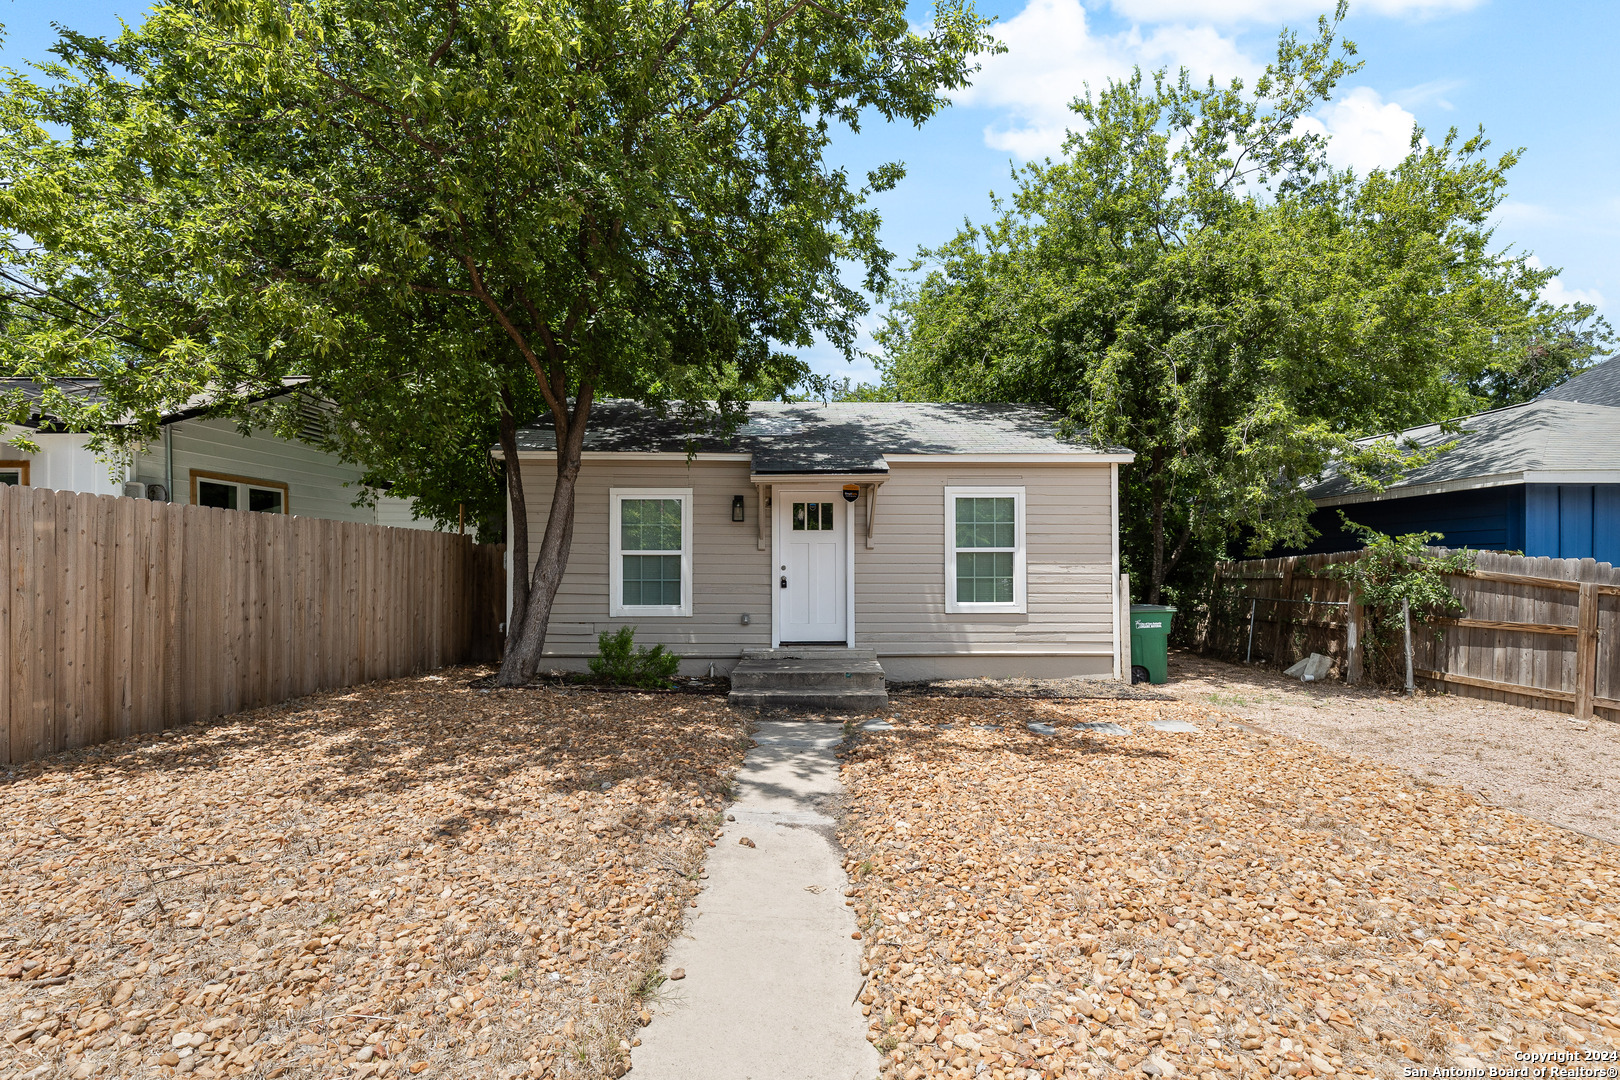
[[[778,487],[776,640],[846,644],[849,640],[849,504],[838,487]]]

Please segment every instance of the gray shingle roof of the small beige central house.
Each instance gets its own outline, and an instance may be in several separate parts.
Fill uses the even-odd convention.
[[[1058,415],[1038,405],[925,402],[752,402],[731,437],[692,439],[700,452],[752,453],[755,473],[883,473],[886,453],[1123,453],[1064,440]],[[591,406],[588,452],[680,453],[688,432],[674,418],[625,400]],[[551,419],[518,432],[518,450],[556,450]]]

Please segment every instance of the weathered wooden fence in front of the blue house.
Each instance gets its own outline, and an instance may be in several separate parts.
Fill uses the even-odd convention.
[[[1205,648],[1243,659],[1252,602],[1254,659],[1286,667],[1324,653],[1351,674],[1359,649],[1349,648],[1349,627],[1364,625],[1359,609],[1346,583],[1317,575],[1356,557],[1220,563]],[[1468,696],[1620,719],[1620,570],[1592,559],[1476,552],[1474,573],[1448,585],[1463,614],[1432,630],[1413,627],[1418,678]],[[1307,599],[1317,602],[1301,602]]]

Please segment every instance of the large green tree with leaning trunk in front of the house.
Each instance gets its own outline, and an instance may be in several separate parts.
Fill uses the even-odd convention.
[[[288,371],[342,397],[384,337],[476,384],[499,338],[557,434],[499,675],[523,682],[591,403],[734,415],[739,387],[805,374],[782,347],[847,348],[841,266],[885,282],[867,196],[901,168],[852,180],[828,139],[925,121],[987,44],[961,0],[925,29],[902,0],[186,0],[70,34],[0,100],[10,363],[102,374],[151,423]]]

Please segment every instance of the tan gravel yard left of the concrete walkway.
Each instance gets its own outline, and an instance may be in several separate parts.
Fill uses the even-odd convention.
[[[0,1077],[620,1075],[742,719],[480,674],[0,771]]]

